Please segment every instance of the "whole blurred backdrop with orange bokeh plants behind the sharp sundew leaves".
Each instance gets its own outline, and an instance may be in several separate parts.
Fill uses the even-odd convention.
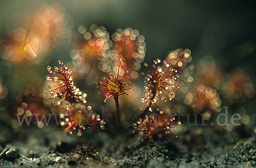
[[[128,127],[144,108],[144,63],[151,69],[159,58],[181,76],[175,81],[180,89],[172,91],[175,96],[168,95],[175,99],[157,101],[165,113],[198,114],[210,123],[228,106],[230,116],[241,115],[239,133],[255,134],[255,5],[200,0],[2,1],[0,144],[24,138],[16,114],[59,114],[58,106],[64,103],[58,105],[61,98],[49,96],[46,81],[47,66],[59,67],[58,60],[73,71],[74,84],[83,92],[81,100],[105,120],[115,107],[114,100],[104,103],[98,94],[95,81],[104,76],[102,70],[116,73],[117,65],[121,75],[129,70],[132,89],[120,99],[122,121]],[[43,121],[32,123],[45,127]],[[184,127],[182,133],[186,122]],[[214,127],[220,132],[234,128]],[[17,137],[12,138],[14,134]]]

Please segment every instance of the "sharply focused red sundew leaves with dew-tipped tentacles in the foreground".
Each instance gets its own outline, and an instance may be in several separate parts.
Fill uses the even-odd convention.
[[[71,70],[68,66],[64,66],[63,62],[58,61],[61,65],[61,68],[52,68],[48,66],[48,71],[52,74],[51,77],[47,77],[47,80],[51,81],[50,84],[50,97],[61,97],[58,102],[58,105],[61,102],[66,101],[66,108],[64,110],[60,110],[59,114],[61,118],[65,119],[65,122],[61,122],[61,125],[66,126],[66,131],[69,131],[70,134],[73,131],[78,130],[79,135],[81,135],[81,130],[85,128],[94,128],[94,129],[104,129],[105,121],[100,119],[98,114],[92,112],[91,106],[86,106],[83,101],[81,101],[81,96],[79,96],[81,91],[74,86]],[[156,99],[163,100],[166,102],[164,96],[169,97],[172,96],[172,93],[169,91],[172,88],[178,88],[177,85],[167,83],[166,81],[169,79],[177,80],[179,75],[177,74],[177,70],[170,68],[169,64],[166,61],[163,61],[161,66],[157,66],[161,61],[157,59],[153,64],[153,72],[149,71],[148,65],[145,64],[145,67],[148,69],[148,74],[144,74],[145,76],[145,97],[142,98],[142,102],[148,107],[151,108],[151,105],[155,105],[157,111],[159,108],[156,105]],[[102,91],[99,93],[105,94],[105,100],[110,97],[113,97],[116,105],[116,116],[117,121],[120,122],[120,111],[119,108],[119,96],[128,95],[125,93],[126,90],[131,90],[131,88],[126,88],[126,86],[131,83],[131,81],[127,82],[126,80],[129,78],[128,71],[125,71],[123,75],[119,75],[119,68],[117,74],[108,75],[103,71],[106,77],[102,79],[96,78],[97,88],[100,88]],[[165,71],[166,70],[166,71]],[[79,99],[80,98],[80,99]],[[171,100],[171,99],[170,99]],[[147,112],[148,108],[145,108],[144,112]],[[139,118],[137,122],[134,122],[132,125],[135,129],[139,129],[146,133],[143,140],[146,137],[150,137],[149,142],[152,139],[154,132],[158,129],[166,131],[166,133],[172,135],[171,128],[175,128],[172,125],[177,125],[180,122],[174,122],[174,117],[168,116],[167,114],[163,114],[161,111],[157,117],[147,116],[145,115],[145,119]]]

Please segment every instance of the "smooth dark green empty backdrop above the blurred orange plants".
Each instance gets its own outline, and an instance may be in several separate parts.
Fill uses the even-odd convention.
[[[80,25],[91,24],[105,26],[110,34],[117,28],[136,28],[145,37],[147,62],[163,59],[172,49],[189,48],[194,64],[201,57],[211,55],[218,57],[219,63],[244,66],[252,74],[256,71],[251,67],[255,52],[241,57],[234,51],[247,40],[255,44],[254,1],[1,1],[1,36],[15,28],[26,10],[44,3],[61,4],[76,30]],[[52,55],[68,57],[68,49]]]

